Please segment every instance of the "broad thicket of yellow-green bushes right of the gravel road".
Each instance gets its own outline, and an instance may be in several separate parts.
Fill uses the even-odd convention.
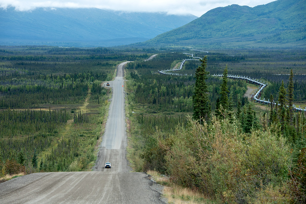
[[[235,121],[213,117],[210,126],[189,119],[171,139],[165,157],[171,179],[220,202],[252,203],[261,194],[280,194],[274,187],[287,178],[289,148],[270,131],[242,134]]]

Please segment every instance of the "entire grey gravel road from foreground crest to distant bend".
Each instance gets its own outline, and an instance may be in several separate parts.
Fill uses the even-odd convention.
[[[123,68],[110,82],[112,101],[94,171],[32,173],[0,184],[0,203],[164,203],[162,187],[140,172],[129,172]],[[104,168],[110,161],[112,167]]]

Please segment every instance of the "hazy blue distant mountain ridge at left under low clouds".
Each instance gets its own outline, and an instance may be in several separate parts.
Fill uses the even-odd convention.
[[[114,46],[142,42],[196,19],[96,8],[0,9],[0,45]]]

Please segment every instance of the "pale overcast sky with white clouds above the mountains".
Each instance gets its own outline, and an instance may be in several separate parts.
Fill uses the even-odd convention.
[[[138,12],[166,12],[169,14],[191,13],[202,16],[207,11],[232,4],[267,4],[273,0],[0,0],[0,7],[15,7],[25,11],[36,7],[45,8],[89,8]]]

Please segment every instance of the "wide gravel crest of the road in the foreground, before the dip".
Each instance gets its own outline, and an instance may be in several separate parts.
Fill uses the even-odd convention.
[[[163,203],[145,173],[32,173],[0,184],[1,203]]]

